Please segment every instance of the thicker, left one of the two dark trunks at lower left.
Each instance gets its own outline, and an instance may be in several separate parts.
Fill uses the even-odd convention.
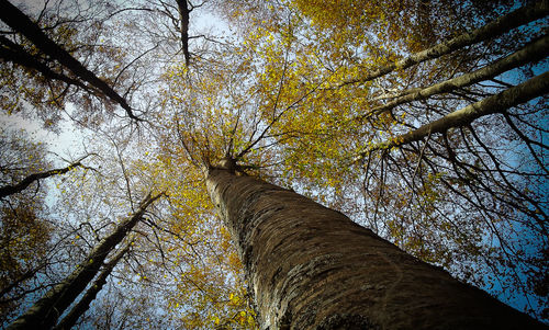
[[[159,198],[150,194],[143,200],[134,215],[119,224],[116,229],[99,242],[88,258],[61,283],[54,286],[36,304],[20,316],[7,329],[51,329],[70,304],[96,276],[107,255],[120,243],[126,234],[141,220],[146,208]]]

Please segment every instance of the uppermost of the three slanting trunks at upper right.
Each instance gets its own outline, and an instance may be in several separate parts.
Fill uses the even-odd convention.
[[[438,58],[442,55],[452,53],[453,50],[460,49],[462,47],[480,43],[493,38],[502,33],[505,33],[512,29],[518,27],[528,22],[542,19],[549,14],[549,1],[533,1],[534,3],[519,8],[504,16],[501,16],[486,25],[479,27],[474,31],[464,33],[447,42],[440,43],[428,49],[419,53],[415,53],[406,58],[397,60],[393,64],[383,66],[369,75],[359,77],[358,79],[348,80],[344,84],[367,82],[376,78],[382,77],[389,72],[396,69],[406,69],[416,64]]]

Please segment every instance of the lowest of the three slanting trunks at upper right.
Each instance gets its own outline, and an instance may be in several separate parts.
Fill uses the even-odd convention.
[[[474,120],[482,116],[503,113],[505,110],[531,99],[541,96],[549,92],[549,71],[536,76],[518,86],[512,87],[498,94],[475,102],[471,105],[455,111],[438,121],[423,125],[410,133],[393,138],[390,141],[374,145],[361,152],[356,159],[363,159],[368,152],[379,149],[389,149],[403,146],[413,141],[418,141],[433,133],[445,133],[452,127],[462,127],[471,124]]]

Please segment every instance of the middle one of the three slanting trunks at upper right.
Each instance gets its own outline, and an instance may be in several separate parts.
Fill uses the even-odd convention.
[[[429,96],[451,92],[459,88],[468,87],[473,83],[496,77],[513,68],[517,68],[528,62],[536,62],[544,59],[549,54],[549,36],[545,36],[523,49],[513,53],[512,55],[502,58],[482,69],[475,70],[460,77],[436,83],[432,87],[414,91],[404,96],[397,98],[394,101],[388,102],[381,106],[372,109],[366,116],[371,116],[386,112],[396,105],[404,104],[412,101],[426,100]]]

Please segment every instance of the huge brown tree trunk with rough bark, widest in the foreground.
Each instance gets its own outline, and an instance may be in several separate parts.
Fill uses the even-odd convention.
[[[545,329],[341,213],[238,174],[210,168],[206,184],[261,329]]]

